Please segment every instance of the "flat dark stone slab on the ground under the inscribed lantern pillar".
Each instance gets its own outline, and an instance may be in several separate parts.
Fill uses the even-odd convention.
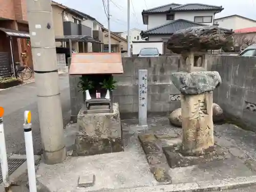
[[[202,156],[183,156],[180,151],[180,146],[163,147],[163,153],[170,168],[186,167],[192,165],[201,165],[212,161],[225,160],[230,158],[227,149],[220,146],[212,146],[209,149],[211,152]]]

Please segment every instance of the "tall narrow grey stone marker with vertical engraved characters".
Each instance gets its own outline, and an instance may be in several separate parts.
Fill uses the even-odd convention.
[[[147,125],[147,70],[139,70],[139,125]]]

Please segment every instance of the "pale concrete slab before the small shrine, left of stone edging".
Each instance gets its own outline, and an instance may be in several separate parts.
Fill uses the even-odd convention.
[[[37,179],[50,191],[73,191],[78,177],[87,174],[95,175],[95,184],[85,191],[156,185],[137,137],[125,137],[124,152],[68,157],[56,165],[41,163]]]

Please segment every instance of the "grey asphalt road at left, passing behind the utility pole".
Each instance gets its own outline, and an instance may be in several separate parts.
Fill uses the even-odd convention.
[[[70,120],[70,92],[68,74],[59,75],[63,123]],[[23,132],[24,111],[32,112],[34,153],[41,152],[41,138],[37,111],[35,82],[0,91],[0,106],[5,108],[4,130],[7,153],[26,154]]]

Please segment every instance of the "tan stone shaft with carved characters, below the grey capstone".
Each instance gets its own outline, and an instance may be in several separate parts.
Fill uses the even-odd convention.
[[[212,92],[181,94],[182,148],[184,155],[199,156],[213,150]]]

